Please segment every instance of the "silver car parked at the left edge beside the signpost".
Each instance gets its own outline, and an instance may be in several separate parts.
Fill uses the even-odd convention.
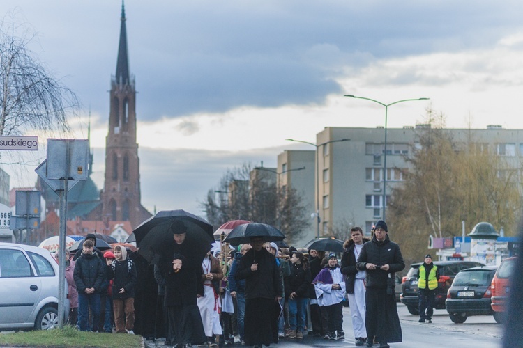
[[[0,331],[58,326],[58,285],[58,264],[49,251],[0,242]],[[64,307],[67,317],[68,300]]]

